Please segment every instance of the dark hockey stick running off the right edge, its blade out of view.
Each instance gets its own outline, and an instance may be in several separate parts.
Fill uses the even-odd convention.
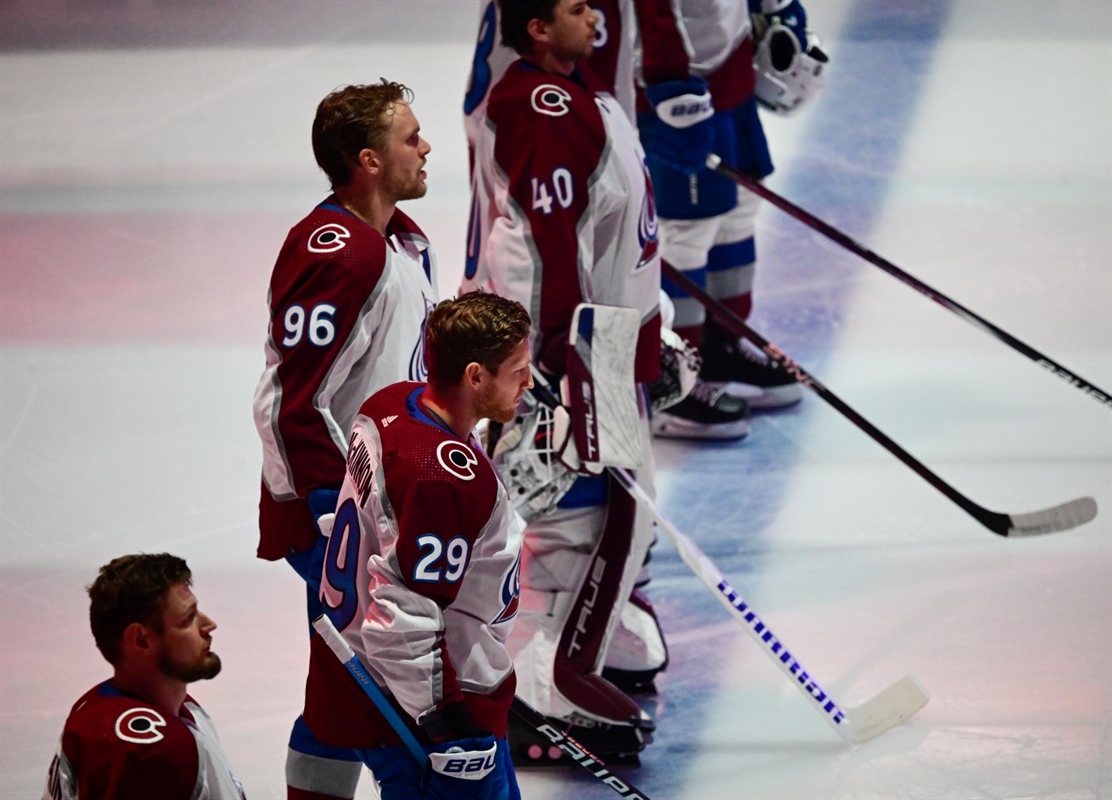
[[[781,210],[785,211],[788,216],[794,217],[795,219],[800,220],[801,223],[803,223],[804,225],[806,225],[808,228],[812,228],[813,230],[817,230],[820,234],[822,234],[826,238],[835,241],[838,245],[842,245],[842,247],[844,247],[845,249],[850,250],[851,253],[854,253],[854,254],[861,256],[862,258],[864,258],[870,264],[872,264],[872,265],[874,265],[876,267],[880,267],[881,269],[883,269],[885,273],[887,273],[892,277],[896,278],[897,280],[901,280],[901,282],[907,284],[913,289],[915,289],[916,292],[919,292],[921,295],[925,295],[926,297],[930,297],[932,300],[934,300],[935,303],[937,303],[940,306],[942,306],[943,308],[946,308],[950,312],[953,312],[954,314],[956,314],[957,316],[960,316],[965,322],[972,323],[973,325],[977,326],[982,330],[985,330],[985,332],[992,334],[993,336],[995,336],[997,339],[1000,339],[1001,342],[1003,342],[1009,347],[1011,347],[1011,348],[1013,348],[1015,350],[1019,350],[1020,353],[1022,353],[1023,355],[1025,355],[1027,358],[1030,358],[1031,361],[1035,362],[1039,366],[1041,366],[1044,369],[1048,369],[1048,371],[1054,373],[1055,375],[1058,375],[1060,378],[1062,378],[1066,383],[1072,384],[1073,386],[1076,386],[1079,389],[1081,389],[1082,392],[1084,392],[1086,395],[1095,398],[1098,402],[1103,403],[1104,405],[1106,405],[1110,408],[1112,408],[1112,397],[1109,396],[1108,392],[1105,392],[1105,391],[1103,391],[1101,388],[1098,388],[1093,384],[1091,384],[1088,381],[1085,381],[1084,378],[1082,378],[1080,375],[1078,375],[1078,374],[1075,374],[1075,373],[1066,369],[1065,367],[1063,367],[1058,362],[1051,359],[1049,356],[1043,355],[1042,353],[1040,353],[1039,350],[1036,350],[1034,347],[1031,347],[1030,345],[1024,344],[1023,342],[1021,342],[1020,339],[1015,338],[1014,336],[1012,336],[1006,330],[1003,330],[1003,329],[996,327],[995,325],[993,325],[992,323],[990,323],[984,317],[980,316],[979,314],[975,314],[974,312],[971,312],[969,308],[966,308],[965,306],[963,306],[961,303],[957,303],[956,300],[953,300],[950,297],[946,297],[944,294],[942,294],[937,289],[934,289],[934,288],[927,286],[926,284],[924,284],[922,280],[920,280],[919,278],[914,277],[913,275],[909,275],[904,270],[900,269],[900,267],[897,267],[896,265],[894,265],[892,261],[890,261],[890,260],[887,260],[885,258],[882,258],[881,256],[876,255],[875,253],[873,253],[868,248],[866,248],[866,247],[857,244],[856,241],[854,241],[853,239],[851,239],[848,236],[846,236],[845,234],[843,234],[837,228],[834,228],[834,227],[827,225],[826,223],[824,223],[823,220],[818,219],[817,217],[815,217],[810,211],[807,211],[807,210],[805,210],[803,208],[800,208],[798,206],[796,206],[792,201],[790,201],[790,200],[781,197],[780,195],[777,195],[776,192],[774,192],[772,189],[770,189],[766,186],[764,186],[761,181],[754,180],[753,178],[748,177],[747,175],[744,175],[744,174],[738,172],[738,171],[736,171],[734,169],[731,169],[729,167],[727,167],[725,164],[722,162],[722,158],[718,157],[717,155],[715,155],[715,154],[712,152],[709,156],[707,156],[707,158],[706,158],[706,166],[708,168],[711,168],[712,170],[714,170],[715,172],[717,172],[718,175],[722,175],[722,176],[724,176],[726,178],[729,178],[731,180],[733,180],[738,186],[745,187],[746,189],[748,189],[749,191],[752,191],[754,195],[763,197],[764,199],[768,200],[768,203],[773,204],[774,206],[776,206]]]

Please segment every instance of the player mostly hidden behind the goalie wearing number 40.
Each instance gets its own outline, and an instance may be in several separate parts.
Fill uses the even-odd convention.
[[[663,0],[667,2],[667,0]],[[679,29],[671,24],[667,17],[655,7],[662,0],[594,0],[590,10],[595,14],[594,49],[586,60],[586,66],[597,79],[595,87],[614,96],[629,119],[636,119],[636,96],[634,92],[634,52],[638,41],[638,22],[651,22],[654,28],[641,30],[642,42],[648,42],[654,48],[671,48],[682,51]],[[644,10],[641,13],[638,9]],[[494,87],[506,68],[516,60],[514,50],[506,47],[499,30],[499,11],[495,0],[486,0],[479,16],[479,31],[475,45],[475,56],[471,63],[471,78],[464,99],[464,128],[467,132],[469,155],[474,168],[475,148],[484,135],[487,125],[486,106]],[[474,257],[474,246],[486,234],[485,223],[479,217],[477,205],[478,194],[473,187],[473,206],[470,229],[468,233],[468,258]],[[664,326],[671,326],[672,304],[666,295],[662,295],[662,317]],[[665,333],[666,344],[662,359],[668,363],[677,357],[673,338]],[[682,347],[678,340],[676,345]],[[667,383],[667,376],[665,376]],[[667,389],[654,387],[654,407],[665,405],[663,395]],[[697,419],[698,424],[683,427],[698,438],[739,438],[748,432],[745,417],[748,408],[744,401],[737,399],[722,389],[701,386],[696,379],[694,392],[686,392],[686,397],[672,402],[669,414],[674,418]],[[678,426],[673,426],[679,433]]]

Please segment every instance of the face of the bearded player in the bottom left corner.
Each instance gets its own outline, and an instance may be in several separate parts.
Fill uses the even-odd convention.
[[[169,589],[158,634],[159,671],[186,683],[216,678],[220,656],[210,650],[215,630],[216,623],[198,611],[197,597],[187,584]]]

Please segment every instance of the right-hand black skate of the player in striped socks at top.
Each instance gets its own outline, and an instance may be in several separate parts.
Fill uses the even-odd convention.
[[[733,336],[707,330],[699,353],[699,378],[745,401],[751,408],[782,408],[803,398],[794,376]]]

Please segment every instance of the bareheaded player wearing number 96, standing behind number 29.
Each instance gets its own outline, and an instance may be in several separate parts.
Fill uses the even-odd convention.
[[[261,559],[285,559],[319,614],[325,540],[360,404],[398,381],[424,381],[424,326],[436,302],[436,259],[397,204],[426,192],[429,145],[411,95],[383,80],[328,95],[312,151],[332,194],[289,231],[270,279],[267,365],[255,394],[262,441]],[[290,798],[351,798],[357,754],[319,745],[298,719],[286,777]]]

